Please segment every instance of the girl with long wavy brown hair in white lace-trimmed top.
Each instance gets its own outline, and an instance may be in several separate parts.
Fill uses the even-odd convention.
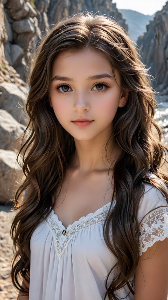
[[[68,16],[42,38],[12,209],[19,300],[167,299],[167,148],[147,71],[108,16]]]

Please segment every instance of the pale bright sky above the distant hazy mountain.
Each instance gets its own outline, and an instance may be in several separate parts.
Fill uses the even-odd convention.
[[[164,0],[112,0],[118,9],[136,10],[144,15],[153,15],[161,10],[167,1]]]

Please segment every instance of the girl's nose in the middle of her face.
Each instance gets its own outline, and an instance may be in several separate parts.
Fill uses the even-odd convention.
[[[84,110],[90,110],[88,98],[89,97],[84,92],[77,93],[74,98],[74,111],[82,113]]]

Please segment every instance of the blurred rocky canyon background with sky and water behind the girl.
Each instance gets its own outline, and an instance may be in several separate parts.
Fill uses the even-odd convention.
[[[152,87],[158,93],[156,120],[168,144],[168,1],[160,0],[0,0],[0,300],[16,299],[9,277],[16,153],[13,142],[23,133],[27,116],[22,107],[28,92],[30,53],[45,32],[63,17],[88,10],[116,20],[140,49]]]

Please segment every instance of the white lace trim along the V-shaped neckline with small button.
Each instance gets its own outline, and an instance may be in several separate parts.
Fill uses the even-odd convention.
[[[110,204],[111,202],[107,203],[102,208],[99,208],[97,211],[95,211],[94,214],[91,213],[86,217],[81,217],[78,221],[75,221],[73,224],[69,225],[67,229],[62,225],[61,221],[56,220],[58,217],[56,214],[54,214],[54,211],[45,219],[54,236],[54,247],[59,258],[65,252],[68,243],[71,241],[73,236],[76,235],[80,230],[91,227],[105,220]],[[112,207],[114,204],[115,203],[113,203]],[[65,235],[62,234],[62,229],[66,231]]]

